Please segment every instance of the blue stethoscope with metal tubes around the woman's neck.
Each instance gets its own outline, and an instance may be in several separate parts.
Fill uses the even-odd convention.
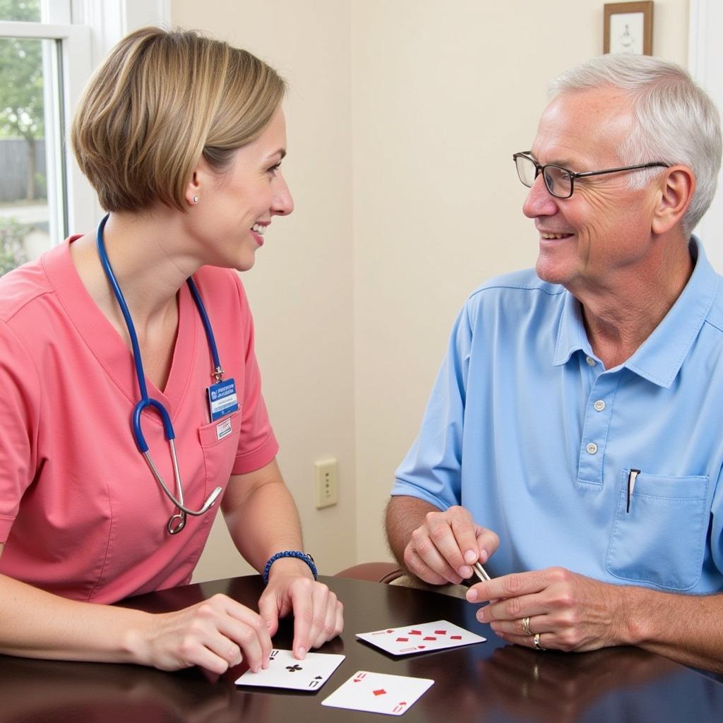
[[[108,254],[106,254],[106,246],[103,243],[103,228],[105,228],[106,221],[108,221],[108,215],[106,215],[98,224],[98,232],[95,236],[95,241],[98,244],[98,255],[100,256],[100,262],[103,264],[103,269],[106,271],[108,281],[111,282],[114,294],[116,295],[116,299],[118,300],[118,305],[119,307],[121,307],[121,312],[123,312],[123,317],[126,321],[126,326],[128,328],[128,334],[131,338],[131,344],[133,346],[133,361],[135,364],[136,377],[138,378],[138,388],[140,389],[140,401],[133,409],[133,437],[138,449],[140,450],[140,453],[142,453],[142,455],[145,457],[145,461],[147,461],[148,466],[150,467],[150,471],[153,472],[153,476],[155,477],[156,481],[158,482],[158,484],[161,485],[163,492],[166,492],[168,499],[171,500],[171,502],[173,502],[174,505],[176,505],[176,508],[178,508],[179,510],[174,515],[171,515],[171,518],[168,519],[168,523],[166,524],[166,529],[168,530],[168,533],[174,535],[179,533],[186,526],[186,515],[197,516],[208,512],[213,503],[218,499],[218,495],[221,495],[222,489],[221,487],[216,487],[213,492],[208,495],[200,510],[191,510],[184,505],[183,485],[181,484],[181,474],[179,473],[178,459],[176,458],[176,445],[174,444],[174,439],[176,435],[174,433],[173,424],[171,424],[171,416],[169,416],[166,407],[164,407],[161,402],[148,396],[148,390],[145,385],[145,375],[143,373],[143,362],[140,356],[140,346],[138,346],[138,337],[136,335],[135,327],[133,325],[133,320],[128,310],[128,305],[126,304],[126,300],[124,299],[121,292],[121,287],[118,285],[118,281],[116,281],[116,276],[113,273],[113,269],[111,268],[111,262],[108,261]],[[196,285],[193,283],[193,279],[190,276],[189,278],[187,278],[186,283],[191,290],[193,300],[196,302],[198,312],[201,315],[201,320],[203,321],[203,326],[206,330],[208,346],[210,348],[211,355],[213,356],[213,364],[215,366],[215,369],[213,371],[213,377],[215,377],[217,382],[220,382],[221,380],[223,380],[223,369],[221,368],[221,362],[218,360],[218,349],[216,348],[215,339],[213,338],[211,323],[208,320],[208,315],[206,314],[206,309],[203,306],[203,302],[201,301],[198,289],[196,288]],[[161,420],[163,421],[163,430],[166,435],[166,440],[168,440],[168,445],[171,448],[171,460],[173,461],[174,466],[174,479],[176,482],[176,489],[178,489],[177,498],[174,496],[173,492],[168,489],[168,487],[166,486],[166,482],[163,482],[163,477],[161,477],[158,469],[156,469],[155,464],[153,463],[153,458],[150,456],[150,452],[148,451],[148,445],[145,441],[145,437],[143,436],[143,430],[140,426],[140,416],[146,407],[153,407],[155,411],[157,411],[158,414],[161,416]]]

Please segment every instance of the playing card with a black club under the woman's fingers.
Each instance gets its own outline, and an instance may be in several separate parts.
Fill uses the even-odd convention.
[[[319,690],[339,667],[343,655],[307,653],[298,660],[290,650],[272,650],[269,667],[254,673],[247,670],[236,685],[260,685],[262,688]]]

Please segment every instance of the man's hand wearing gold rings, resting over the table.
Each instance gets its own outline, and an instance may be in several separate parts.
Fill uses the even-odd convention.
[[[627,590],[564,568],[547,568],[478,583],[467,600],[492,601],[476,617],[502,640],[532,648],[539,633],[546,649],[587,651],[636,643],[626,625]],[[523,627],[525,617],[532,636]]]

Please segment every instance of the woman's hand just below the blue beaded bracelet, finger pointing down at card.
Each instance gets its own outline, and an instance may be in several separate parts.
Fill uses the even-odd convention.
[[[327,586],[312,579],[306,563],[277,560],[259,599],[259,614],[273,636],[279,618],[289,613],[294,615],[292,649],[299,659],[338,636],[344,627],[343,605]]]

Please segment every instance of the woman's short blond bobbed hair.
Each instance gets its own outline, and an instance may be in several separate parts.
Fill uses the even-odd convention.
[[[220,40],[143,27],[90,79],[71,128],[78,165],[108,211],[156,201],[185,210],[201,156],[215,171],[257,138],[286,83],[263,61]]]

